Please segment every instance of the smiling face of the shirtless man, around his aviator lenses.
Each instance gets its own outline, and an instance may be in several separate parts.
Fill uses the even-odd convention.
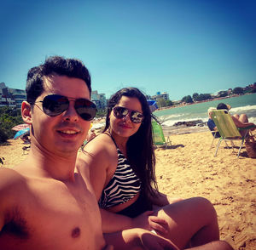
[[[48,116],[43,111],[42,101],[46,95],[67,96],[67,111],[58,116]],[[79,150],[90,128],[74,109],[73,99],[90,99],[85,82],[79,78],[63,76],[45,77],[44,93],[36,99],[32,109],[32,138],[34,144],[59,156],[68,156]]]

